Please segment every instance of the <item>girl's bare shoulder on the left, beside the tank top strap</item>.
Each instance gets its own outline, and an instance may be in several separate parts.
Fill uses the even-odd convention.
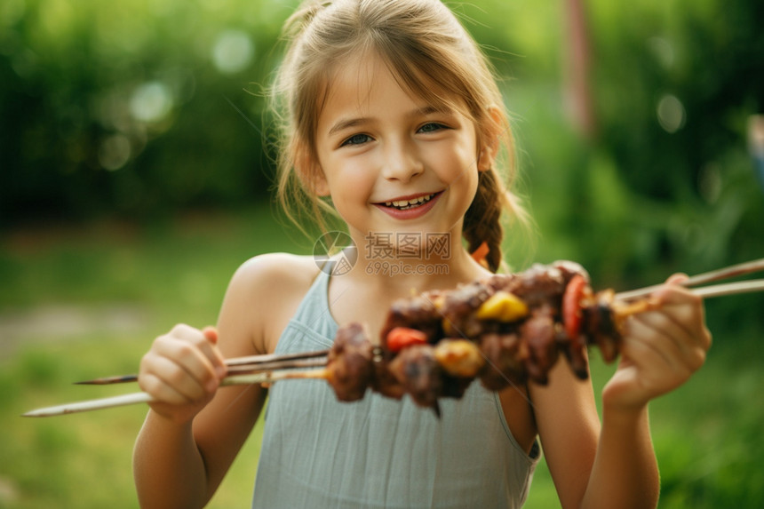
[[[269,253],[250,258],[228,285],[219,327],[237,330],[236,336],[248,338],[255,353],[273,352],[318,272],[310,256]]]

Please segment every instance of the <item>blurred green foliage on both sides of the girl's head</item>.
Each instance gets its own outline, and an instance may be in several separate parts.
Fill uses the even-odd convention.
[[[266,198],[261,92],[294,4],[5,2],[0,228]],[[452,7],[506,78],[538,258],[631,285],[760,256],[764,200],[745,147],[764,107],[760,2],[586,4],[592,139],[563,100],[567,4]]]

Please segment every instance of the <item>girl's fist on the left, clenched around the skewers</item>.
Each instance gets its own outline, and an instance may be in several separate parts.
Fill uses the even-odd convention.
[[[175,422],[190,422],[211,401],[227,369],[218,331],[176,325],[156,338],[140,361],[138,383],[155,402],[149,406]]]

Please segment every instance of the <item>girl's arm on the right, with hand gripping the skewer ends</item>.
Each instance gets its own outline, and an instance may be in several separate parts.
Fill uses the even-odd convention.
[[[680,281],[679,277],[669,280]],[[602,393],[602,424],[591,386],[556,369],[533,387],[537,425],[563,507],[655,507],[659,478],[648,402],[683,384],[704,362],[711,335],[703,304],[669,284],[659,310],[627,323],[622,358]]]

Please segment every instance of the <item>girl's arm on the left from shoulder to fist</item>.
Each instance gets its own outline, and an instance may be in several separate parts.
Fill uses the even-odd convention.
[[[144,356],[139,384],[160,402],[151,404],[133,454],[141,507],[202,507],[218,488],[267,394],[260,386],[218,391],[222,360],[267,353],[266,331],[281,311],[274,303],[290,308],[281,295],[290,290],[290,265],[295,274],[294,264],[269,255],[236,272],[220,311],[219,345],[213,330],[177,326]]]

